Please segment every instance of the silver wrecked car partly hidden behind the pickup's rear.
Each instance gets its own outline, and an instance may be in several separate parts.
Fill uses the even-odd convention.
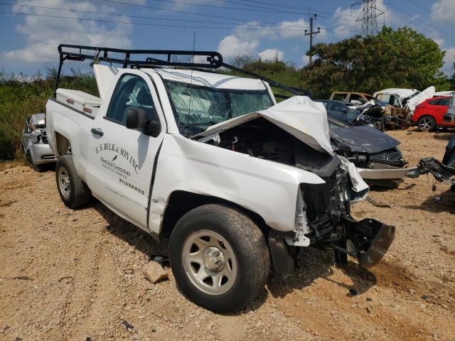
[[[43,171],[45,163],[57,161],[48,145],[44,113],[33,114],[26,119],[25,128],[22,130],[21,147],[28,163],[37,172]]]

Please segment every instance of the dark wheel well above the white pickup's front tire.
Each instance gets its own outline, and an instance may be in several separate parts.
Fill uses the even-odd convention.
[[[242,212],[247,215],[247,217],[250,217],[250,219],[257,224],[259,229],[261,229],[264,236],[267,237],[269,227],[265,223],[264,219],[257,213],[237,205],[235,202],[231,202],[220,197],[196,194],[183,190],[173,192],[169,197],[168,205],[166,207],[166,211],[164,212],[163,223],[161,224],[160,237],[171,237],[173,227],[176,225],[178,220],[183,217],[183,215],[196,207],[207,204],[225,205]]]

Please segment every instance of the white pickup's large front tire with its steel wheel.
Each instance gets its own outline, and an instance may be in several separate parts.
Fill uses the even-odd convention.
[[[269,276],[269,249],[261,230],[222,205],[203,205],[183,215],[171,234],[169,258],[183,293],[219,313],[251,303]]]

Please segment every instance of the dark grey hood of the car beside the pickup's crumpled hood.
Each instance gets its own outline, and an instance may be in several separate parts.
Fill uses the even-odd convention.
[[[340,150],[359,153],[379,153],[400,144],[392,136],[371,126],[332,128],[331,141]]]

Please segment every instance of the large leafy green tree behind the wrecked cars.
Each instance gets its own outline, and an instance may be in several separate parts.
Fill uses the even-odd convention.
[[[372,93],[385,87],[449,87],[439,70],[445,51],[408,27],[393,30],[383,26],[377,36],[319,43],[313,53],[316,60],[301,73],[316,97],[328,97],[333,91]]]

